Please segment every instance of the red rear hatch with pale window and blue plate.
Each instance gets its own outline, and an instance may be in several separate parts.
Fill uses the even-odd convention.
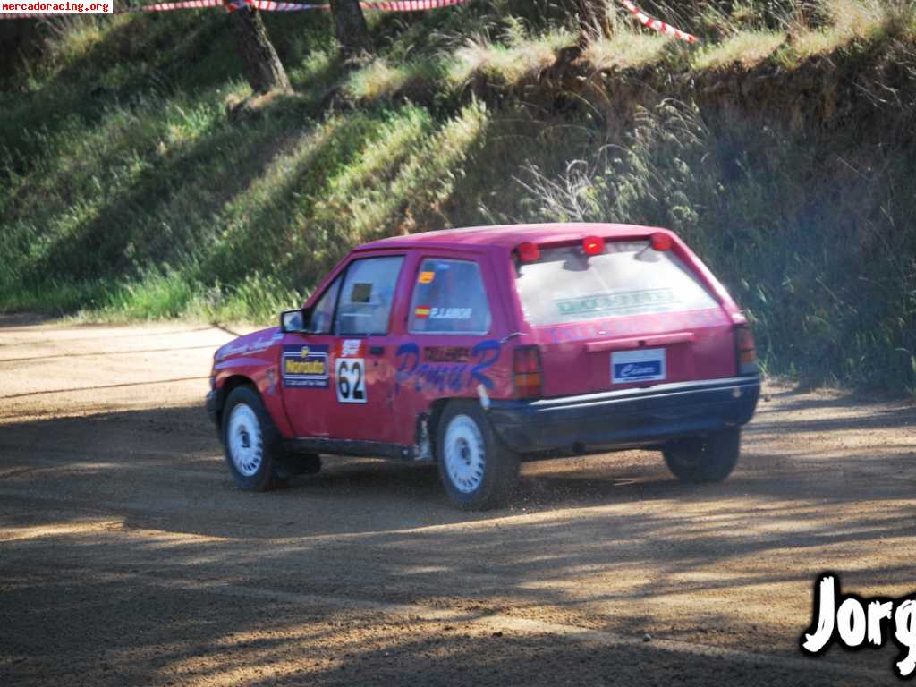
[[[541,397],[736,376],[735,324],[671,234],[523,244],[513,259]]]

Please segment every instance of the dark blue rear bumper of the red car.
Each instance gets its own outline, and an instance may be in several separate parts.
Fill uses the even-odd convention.
[[[518,453],[583,447],[636,448],[743,425],[760,380],[710,379],[534,401],[491,401],[499,437]]]

